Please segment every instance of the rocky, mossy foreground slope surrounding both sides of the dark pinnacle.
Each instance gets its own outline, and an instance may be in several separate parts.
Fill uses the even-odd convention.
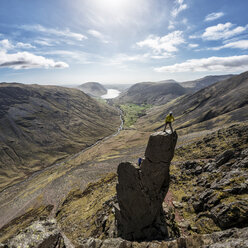
[[[85,248],[247,247],[247,127],[236,125],[219,130],[200,142],[177,148],[170,171],[170,189],[163,203],[164,218],[175,235],[173,240],[135,242],[117,238],[117,176],[109,174],[84,191],[72,191],[56,214],[57,224],[48,217],[51,208],[33,210],[36,212],[28,212],[1,229],[0,237],[4,238],[0,242],[14,247],[11,244],[20,245],[20,240],[24,244],[36,240],[40,232],[39,242],[46,243],[51,233],[52,237],[57,235],[59,243],[63,244],[61,237],[69,238],[74,247]],[[216,149],[218,142],[225,145]],[[207,153],[195,153],[194,159],[188,160],[191,149],[197,146],[208,149]],[[173,200],[168,200],[168,196]]]

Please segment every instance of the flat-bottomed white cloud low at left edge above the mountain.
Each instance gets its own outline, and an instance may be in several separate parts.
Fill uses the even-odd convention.
[[[32,69],[32,68],[67,68],[64,62],[55,62],[43,56],[37,56],[29,52],[6,53],[0,52],[0,68],[8,67],[12,69]]]

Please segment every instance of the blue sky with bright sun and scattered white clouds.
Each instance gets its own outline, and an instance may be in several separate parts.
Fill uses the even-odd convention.
[[[1,0],[0,82],[137,83],[248,70],[247,0]]]

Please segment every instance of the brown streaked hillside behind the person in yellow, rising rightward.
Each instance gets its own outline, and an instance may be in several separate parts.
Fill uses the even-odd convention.
[[[194,94],[187,94],[173,102],[151,110],[139,121],[140,126],[151,127],[163,123],[169,111],[173,111],[177,128],[198,125],[211,129],[231,121],[248,120],[248,72],[217,82]]]

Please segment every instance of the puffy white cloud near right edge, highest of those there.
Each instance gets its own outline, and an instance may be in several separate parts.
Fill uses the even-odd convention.
[[[202,35],[202,39],[205,40],[220,40],[228,39],[235,35],[243,33],[247,27],[234,27],[234,24],[227,22],[225,24],[218,24],[216,26],[211,26],[205,29]]]

